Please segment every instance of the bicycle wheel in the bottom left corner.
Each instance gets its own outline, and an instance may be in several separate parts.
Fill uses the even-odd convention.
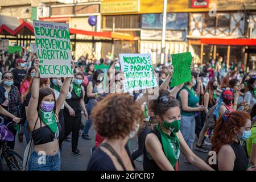
[[[23,158],[12,150],[6,151],[6,156],[1,155],[1,160],[5,165],[6,169],[9,171],[21,171]],[[7,161],[6,161],[7,160]]]

